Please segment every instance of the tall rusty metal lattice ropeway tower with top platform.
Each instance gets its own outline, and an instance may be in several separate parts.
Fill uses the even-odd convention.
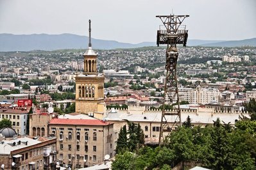
[[[177,60],[178,49],[176,45],[181,44],[184,47],[187,44],[188,30],[182,26],[182,22],[189,15],[157,15],[164,26],[160,26],[157,31],[157,46],[166,44],[166,81],[164,84],[164,102],[162,105],[162,117],[160,124],[159,146],[164,142],[164,133],[169,133],[177,125],[182,126],[180,115],[180,101],[178,96],[177,80]],[[173,106],[174,99],[178,103],[172,110],[166,110],[165,105]],[[167,121],[167,117],[171,121]]]

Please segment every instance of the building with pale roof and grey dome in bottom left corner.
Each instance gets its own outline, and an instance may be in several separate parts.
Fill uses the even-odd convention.
[[[3,169],[56,169],[56,139],[17,136],[12,128],[0,133]]]

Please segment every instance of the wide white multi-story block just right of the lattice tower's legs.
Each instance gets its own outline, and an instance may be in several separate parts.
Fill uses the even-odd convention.
[[[180,101],[187,101],[190,104],[207,104],[212,101],[218,102],[220,92],[218,89],[206,89],[198,86],[196,89],[181,87],[178,89],[178,94]],[[177,98],[174,99],[175,102],[176,100]]]

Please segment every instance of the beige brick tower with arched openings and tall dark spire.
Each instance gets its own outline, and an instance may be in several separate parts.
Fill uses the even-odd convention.
[[[92,49],[89,20],[89,47],[83,54],[84,71],[76,76],[76,112],[94,114],[104,112],[104,76],[97,72],[97,56]]]

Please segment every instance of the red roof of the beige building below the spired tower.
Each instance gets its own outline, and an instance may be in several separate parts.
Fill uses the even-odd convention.
[[[94,125],[94,126],[107,126],[109,123],[105,123],[100,120],[93,119],[52,119],[49,124],[74,124],[74,125]]]

